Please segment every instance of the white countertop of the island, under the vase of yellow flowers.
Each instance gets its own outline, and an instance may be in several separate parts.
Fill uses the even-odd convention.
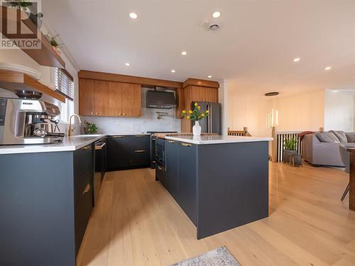
[[[194,137],[192,135],[165,136],[167,140],[181,141],[192,144],[220,144],[220,143],[248,143],[256,141],[270,141],[273,138],[259,137],[238,137],[234,135],[202,135]]]

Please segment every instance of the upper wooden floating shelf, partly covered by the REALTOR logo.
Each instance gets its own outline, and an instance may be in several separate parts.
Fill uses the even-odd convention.
[[[1,7],[1,12],[0,12],[0,19],[4,18],[4,16],[7,17],[7,21],[18,21],[19,18],[26,18],[26,13],[23,11],[19,11],[17,9],[12,9],[6,6],[0,6]],[[21,13],[21,16],[17,16],[18,14]],[[28,17],[28,16],[27,16]],[[26,25],[29,31],[32,33],[35,33],[38,31],[36,28],[35,24],[28,18],[26,20],[22,20],[22,23]],[[0,31],[6,36],[9,37],[9,34],[4,33],[2,31],[2,28]],[[35,62],[38,62],[39,65],[44,65],[47,67],[60,67],[60,68],[65,68],[65,62],[62,60],[60,55],[58,55],[57,52],[53,49],[52,45],[48,42],[48,40],[45,38],[45,36],[40,33],[40,42],[41,42],[41,48],[40,49],[26,49],[23,48],[23,52],[26,52],[28,56],[30,56]],[[19,36],[21,38],[21,36]]]

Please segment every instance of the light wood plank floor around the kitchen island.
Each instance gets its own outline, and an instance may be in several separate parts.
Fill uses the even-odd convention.
[[[218,178],[218,177],[217,177]],[[150,169],[107,173],[78,265],[170,265],[219,246],[241,265],[355,265],[355,212],[342,170],[270,165],[270,216],[196,240]]]

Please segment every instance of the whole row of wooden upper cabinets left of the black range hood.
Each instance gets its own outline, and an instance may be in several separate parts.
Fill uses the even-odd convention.
[[[82,116],[141,116],[141,85],[80,79]]]

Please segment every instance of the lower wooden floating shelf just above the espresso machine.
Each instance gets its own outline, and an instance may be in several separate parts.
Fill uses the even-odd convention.
[[[12,92],[17,89],[30,89],[32,91],[42,92],[43,94],[65,103],[65,96],[54,92],[53,89],[50,89],[44,84],[38,82],[38,80],[35,80],[27,74],[23,74],[21,72],[0,70],[0,87],[3,89],[9,89]]]

